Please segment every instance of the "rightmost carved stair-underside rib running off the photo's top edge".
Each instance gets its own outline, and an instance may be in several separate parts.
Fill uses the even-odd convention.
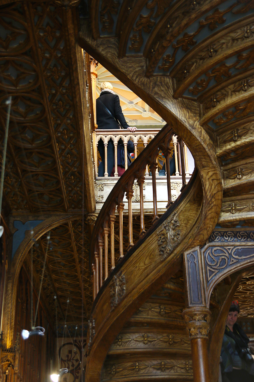
[[[180,0],[164,13],[156,24],[145,44],[144,56],[148,58],[146,75],[151,76],[165,50],[188,26],[209,10],[223,3],[224,0],[203,2],[193,6],[188,0]]]

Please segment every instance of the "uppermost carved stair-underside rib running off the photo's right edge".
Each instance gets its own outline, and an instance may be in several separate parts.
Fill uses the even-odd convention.
[[[195,45],[189,53],[185,54],[170,72],[170,76],[176,79],[174,96],[176,98],[181,97],[196,79],[226,58],[253,47],[253,38],[245,38],[244,33],[239,39],[235,38],[243,32],[244,27],[251,23],[252,20],[253,15],[229,24],[225,28],[214,32],[211,36]]]

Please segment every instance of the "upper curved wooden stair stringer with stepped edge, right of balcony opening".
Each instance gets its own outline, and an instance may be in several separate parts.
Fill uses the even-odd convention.
[[[173,81],[169,76],[145,77],[144,57],[118,58],[117,38],[94,40],[89,23],[86,20],[82,23],[78,37],[80,46],[150,105],[192,152],[204,195],[203,224],[192,246],[202,245],[220,214],[222,180],[214,143],[199,123],[199,104],[189,99],[174,99]]]

